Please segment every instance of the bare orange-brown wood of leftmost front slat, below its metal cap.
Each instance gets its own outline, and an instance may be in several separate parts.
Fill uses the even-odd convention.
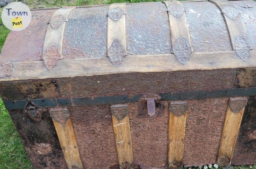
[[[83,164],[76,142],[76,136],[70,117],[67,119],[64,126],[54,119],[52,119],[52,121],[57,132],[68,169],[83,169]]]

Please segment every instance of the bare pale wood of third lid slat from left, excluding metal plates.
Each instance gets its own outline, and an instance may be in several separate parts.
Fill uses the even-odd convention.
[[[171,5],[182,6],[179,1],[163,1],[163,3],[166,5],[167,8]],[[168,12],[168,17],[171,31],[172,47],[180,37],[184,37],[184,39],[188,42],[189,46],[191,46],[185,10],[179,18],[173,16],[170,12]]]

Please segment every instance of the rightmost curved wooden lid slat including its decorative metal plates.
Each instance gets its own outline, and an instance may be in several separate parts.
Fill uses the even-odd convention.
[[[246,61],[250,57],[252,45],[237,8],[227,0],[209,0],[215,4],[223,15],[228,29],[232,49],[236,51],[237,56]]]

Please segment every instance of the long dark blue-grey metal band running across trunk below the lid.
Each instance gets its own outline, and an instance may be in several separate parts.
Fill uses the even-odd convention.
[[[256,96],[256,88],[236,88],[236,89],[221,89],[221,90],[201,90],[189,92],[171,92],[159,93],[162,97],[160,101],[174,100],[191,100],[219,97],[236,97],[236,96]],[[37,108],[56,107],[56,106],[84,106],[84,105],[99,105],[99,104],[125,104],[138,102],[142,94],[128,96],[99,96],[99,97],[76,97],[76,98],[48,98],[48,99],[32,99]],[[25,109],[27,100],[4,101],[4,105],[8,110]]]

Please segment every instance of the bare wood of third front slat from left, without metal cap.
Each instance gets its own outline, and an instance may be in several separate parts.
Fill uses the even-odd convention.
[[[187,110],[181,116],[175,116],[173,112],[169,110],[168,169],[183,168],[186,120]]]

